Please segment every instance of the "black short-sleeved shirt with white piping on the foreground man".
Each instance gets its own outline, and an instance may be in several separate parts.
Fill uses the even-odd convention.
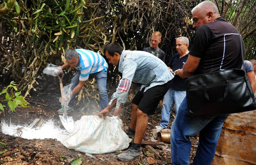
[[[245,54],[245,48],[243,45]],[[189,54],[201,58],[194,75],[226,69],[241,69],[240,33],[222,17],[201,25]]]

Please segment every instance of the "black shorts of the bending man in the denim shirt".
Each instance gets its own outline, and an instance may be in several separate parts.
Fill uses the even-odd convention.
[[[155,110],[160,100],[169,90],[171,84],[172,80],[168,81],[166,84],[152,87],[148,89],[145,93],[145,88],[143,88],[141,91],[138,91],[136,93],[131,102],[135,105],[138,105],[138,108],[145,114],[152,115],[155,113]]]

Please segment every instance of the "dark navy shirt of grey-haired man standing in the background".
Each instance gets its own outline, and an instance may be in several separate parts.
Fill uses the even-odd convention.
[[[182,58],[180,58],[180,55],[178,53],[174,54],[170,62],[167,64],[167,66],[169,66],[173,72],[177,69],[182,69],[184,63],[187,61],[188,54],[186,54]],[[174,78],[172,79],[171,88],[173,88],[174,90],[185,91],[186,79],[187,78],[181,78],[180,76],[175,75]]]

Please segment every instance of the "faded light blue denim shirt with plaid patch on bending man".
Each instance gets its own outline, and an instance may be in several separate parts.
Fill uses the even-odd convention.
[[[116,108],[126,102],[132,81],[146,87],[145,92],[149,88],[167,83],[174,77],[164,62],[145,51],[123,50],[118,71],[122,73],[122,79],[109,102],[111,105],[117,99]]]

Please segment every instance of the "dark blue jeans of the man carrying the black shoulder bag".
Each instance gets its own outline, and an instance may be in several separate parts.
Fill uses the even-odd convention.
[[[185,97],[171,126],[172,164],[189,164],[189,137],[199,132],[197,153],[191,165],[211,165],[222,125],[227,117],[228,115],[189,117]]]

